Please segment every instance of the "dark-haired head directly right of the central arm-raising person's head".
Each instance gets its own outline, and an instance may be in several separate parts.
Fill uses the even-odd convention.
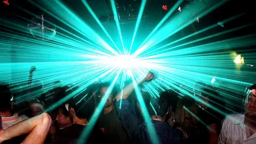
[[[198,122],[193,115],[197,115],[197,109],[194,103],[194,99],[185,96],[177,105],[174,116],[174,125],[176,127],[181,127],[186,131],[186,129],[189,129],[191,126]]]

